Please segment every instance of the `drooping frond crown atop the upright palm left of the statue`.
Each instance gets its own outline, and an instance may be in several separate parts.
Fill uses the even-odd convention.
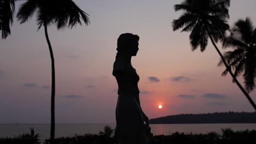
[[[71,0],[27,0],[18,11],[18,20],[21,23],[29,20],[36,13],[38,29],[42,25],[55,23],[57,29],[73,28],[81,18],[88,25],[89,17]]]

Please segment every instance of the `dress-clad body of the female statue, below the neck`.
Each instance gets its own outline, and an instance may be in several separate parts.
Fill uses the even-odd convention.
[[[139,102],[139,76],[136,69],[129,63],[115,61],[113,75],[118,83],[115,139],[118,144],[148,144],[144,113]]]

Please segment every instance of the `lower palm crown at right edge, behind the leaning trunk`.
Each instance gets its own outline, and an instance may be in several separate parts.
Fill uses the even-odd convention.
[[[243,73],[247,92],[253,91],[256,80],[256,28],[249,17],[238,20],[231,29],[230,36],[225,40],[224,47],[232,47],[232,51],[224,53],[229,68],[235,71],[235,77]],[[219,65],[223,65],[220,61]],[[226,75],[225,70],[222,75]]]

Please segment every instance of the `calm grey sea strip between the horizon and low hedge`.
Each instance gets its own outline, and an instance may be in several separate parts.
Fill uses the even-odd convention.
[[[83,135],[86,133],[98,134],[103,131],[105,125],[113,129],[115,124],[56,124],[56,137]],[[30,127],[35,133],[40,134],[40,139],[48,139],[50,136],[50,124],[0,124],[0,137],[13,137],[24,133],[30,133]],[[221,129],[231,128],[234,131],[256,130],[256,123],[253,124],[150,124],[154,135],[170,135],[172,133],[202,133],[216,132],[221,134]]]

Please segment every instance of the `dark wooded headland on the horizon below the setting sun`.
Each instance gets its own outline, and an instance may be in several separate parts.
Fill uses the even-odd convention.
[[[149,119],[149,123],[256,123],[256,112],[216,112],[203,114],[182,114]]]

